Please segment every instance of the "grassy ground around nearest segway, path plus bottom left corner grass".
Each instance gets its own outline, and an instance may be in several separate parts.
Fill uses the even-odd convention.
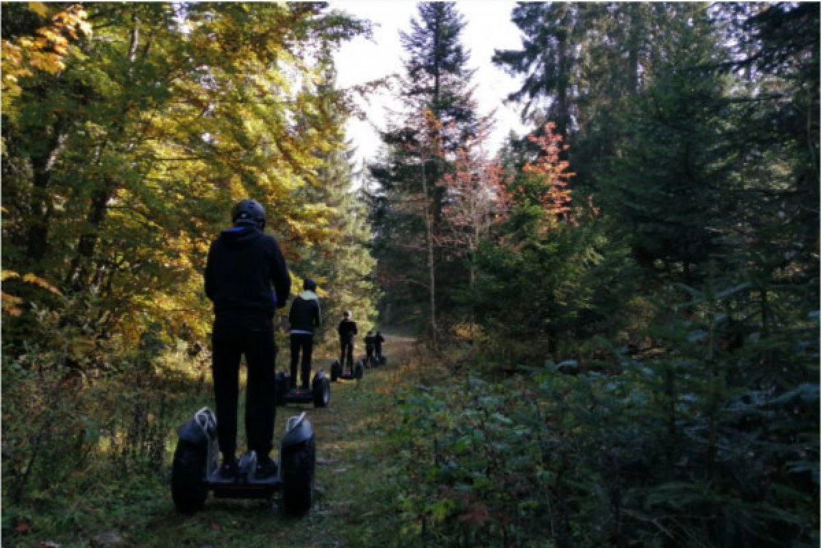
[[[382,455],[386,441],[384,417],[394,412],[393,387],[404,378],[404,363],[413,354],[414,341],[386,339],[389,365],[367,370],[358,383],[332,385],[329,408],[291,405],[277,409],[275,446],[285,420],[299,412],[307,412],[316,432],[315,503],[307,516],[287,518],[276,504],[263,501],[214,499],[208,500],[201,512],[182,515],[171,500],[170,472],[166,477],[107,477],[100,478],[98,484],[104,496],[89,493],[76,503],[84,514],[78,522],[71,523],[70,518],[50,526],[39,522],[34,534],[4,539],[3,546],[43,548],[49,546],[44,544],[47,540],[60,548],[389,545],[395,533],[396,522],[390,511],[395,495],[390,481],[386,481],[390,459]],[[315,361],[315,366],[326,371],[329,364],[328,358]],[[201,404],[211,405],[210,394],[203,394],[202,400]],[[185,415],[194,411],[192,407]],[[242,410],[239,426],[238,447],[242,449]],[[167,469],[172,452],[173,446],[166,455]],[[109,533],[119,540],[107,541]]]

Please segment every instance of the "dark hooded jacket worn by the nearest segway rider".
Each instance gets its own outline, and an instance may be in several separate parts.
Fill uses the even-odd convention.
[[[273,286],[273,289],[272,289]],[[291,277],[273,237],[239,224],[219,234],[205,263],[205,294],[215,315],[271,317],[285,306]]]

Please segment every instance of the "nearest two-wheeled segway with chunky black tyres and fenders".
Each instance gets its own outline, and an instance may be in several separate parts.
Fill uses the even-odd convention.
[[[285,421],[276,472],[257,477],[257,455],[248,451],[240,458],[237,475],[223,477],[219,474],[217,420],[209,408],[202,408],[178,430],[171,471],[174,506],[182,513],[193,513],[203,507],[209,491],[215,498],[270,500],[279,490],[284,511],[302,515],[312,504],[315,450],[314,430],[303,412]]]

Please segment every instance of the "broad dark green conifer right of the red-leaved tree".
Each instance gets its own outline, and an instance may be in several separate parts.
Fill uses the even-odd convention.
[[[621,143],[598,185],[603,207],[632,235],[638,263],[692,283],[694,270],[720,252],[718,228],[731,206],[723,194],[731,110],[727,79],[704,68],[725,60],[707,12],[669,28],[669,40],[688,47],[658,63],[655,80],[617,118]]]

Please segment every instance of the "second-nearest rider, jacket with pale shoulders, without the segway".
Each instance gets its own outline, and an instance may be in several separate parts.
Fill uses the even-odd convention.
[[[304,279],[302,281],[302,293],[291,303],[289,322],[291,323],[291,386],[289,388],[297,388],[297,363],[302,350],[300,389],[308,390],[314,330],[319,329],[321,322],[320,297],[316,296],[314,280]]]

